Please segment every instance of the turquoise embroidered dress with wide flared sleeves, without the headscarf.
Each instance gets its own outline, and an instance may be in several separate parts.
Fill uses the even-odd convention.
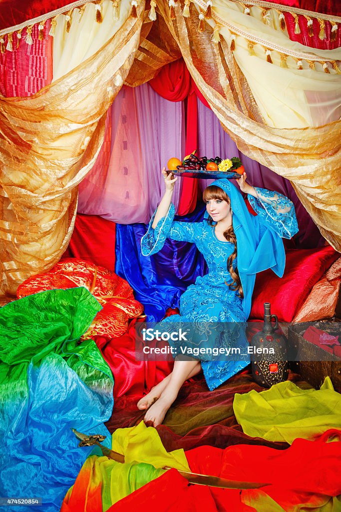
[[[225,181],[226,180],[219,180],[219,182]],[[218,184],[218,181],[213,184]],[[244,209],[244,202],[238,191],[238,196],[240,196],[241,201],[243,202],[243,212],[240,216],[246,216],[246,222],[245,220],[243,221],[244,224],[248,223],[251,226],[251,229],[258,233],[259,240],[262,239],[266,230],[271,231],[271,236],[275,236],[275,238],[278,238],[278,236],[282,238],[291,238],[293,234],[298,231],[294,207],[291,201],[277,192],[272,192],[258,187],[255,187],[255,189],[259,195],[270,200],[271,204],[249,195],[248,200],[257,213],[257,216],[254,217],[252,214],[249,214],[246,207]],[[232,189],[232,191],[233,195],[235,195],[235,190]],[[232,196],[230,197],[232,209],[235,211]],[[285,208],[288,210],[286,213],[280,213],[278,211]],[[250,297],[249,305],[245,305],[245,300],[243,301],[238,296],[238,291],[231,290],[231,288],[225,284],[232,283],[231,274],[227,268],[227,260],[234,251],[234,244],[218,240],[215,235],[215,226],[211,226],[207,220],[203,220],[202,222],[174,222],[173,204],[170,205],[167,216],[157,223],[155,229],[151,227],[154,216],[155,214],[150,220],[148,231],[141,241],[143,255],[149,256],[158,252],[163,247],[166,238],[192,242],[202,253],[209,269],[209,272],[206,275],[198,276],[195,284],[189,286],[183,295],[181,295],[179,305],[180,314],[165,318],[162,321],[162,324],[179,321],[246,322],[249,315],[249,309],[251,308],[251,293],[253,289],[252,281],[250,284],[248,284],[248,281],[243,282],[242,274],[239,272],[244,295],[246,292],[245,288],[252,287],[251,290],[248,290],[249,293],[246,293],[246,295],[249,295]],[[233,225],[237,238],[237,258],[234,260],[233,266],[238,266],[239,269],[239,226],[235,226],[235,223]],[[282,244],[281,241],[280,243]],[[269,245],[268,240],[265,240],[265,244]],[[245,248],[243,248],[243,250],[245,250]],[[255,252],[257,252],[256,249]],[[283,274],[284,270],[284,249],[282,258],[283,269],[282,271],[277,271],[279,274]],[[268,267],[266,266],[265,268]],[[263,270],[263,268],[258,267],[257,271],[259,270]],[[172,342],[172,345],[173,344],[174,342]],[[249,359],[246,358],[241,361],[201,361],[201,367],[209,389],[215,389],[222,382],[247,366],[248,362]]]

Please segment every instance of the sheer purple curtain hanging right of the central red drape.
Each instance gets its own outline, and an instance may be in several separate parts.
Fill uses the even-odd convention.
[[[236,143],[224,132],[212,110],[203,105],[199,99],[197,102],[199,155],[207,156],[208,158],[215,156],[220,156],[221,158],[239,157],[245,167],[247,179],[251,185],[267,188],[268,190],[277,190],[293,202],[299,225],[299,232],[294,237],[296,246],[302,249],[310,249],[323,245],[324,238],[306,209],[302,206],[291,183],[264,165],[256,162],[256,160],[252,160],[240,153]],[[213,180],[200,181],[203,190]]]

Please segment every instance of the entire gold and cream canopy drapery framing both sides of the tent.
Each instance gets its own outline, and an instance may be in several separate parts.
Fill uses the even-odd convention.
[[[43,4],[39,14],[35,11],[37,18],[19,20],[25,27],[5,24],[9,28],[0,31],[2,55],[11,51],[18,34],[25,35],[19,46],[29,46],[35,41],[36,24],[39,40],[51,23],[56,70],[57,47],[70,53],[80,14],[79,30],[88,23],[90,10],[97,22],[102,21],[98,26],[105,27],[110,10],[115,19],[111,4],[104,0],[95,6],[91,2],[65,6],[63,2],[65,7],[49,13]],[[179,54],[239,150],[289,179],[323,236],[339,249],[341,18],[337,13],[330,13],[328,4],[322,13],[297,14],[285,6],[279,13],[278,4],[264,12],[257,0],[251,7],[215,0],[211,19],[202,0],[190,5],[177,2],[174,8],[158,2],[155,15],[152,9],[145,10],[143,2],[136,13],[134,7],[126,0],[119,3],[118,23],[110,25],[117,32],[107,41],[110,30],[94,25],[89,51],[84,48],[78,56],[73,52],[76,67],[68,70],[71,59],[66,59],[66,73],[62,70],[50,86],[29,98],[0,98],[1,293],[13,294],[28,275],[58,261],[72,231],[77,185],[96,160],[104,114],[124,80],[134,86],[144,83]],[[184,9],[188,17],[183,16]],[[13,11],[8,15],[13,20]],[[151,22],[148,16],[156,20]],[[298,26],[303,42],[310,38],[309,48],[292,40],[290,16],[295,20],[294,33],[298,35]],[[324,48],[335,49],[313,48],[318,46],[313,42],[316,27],[320,27],[319,39],[330,41]],[[302,33],[304,29],[308,35]]]

